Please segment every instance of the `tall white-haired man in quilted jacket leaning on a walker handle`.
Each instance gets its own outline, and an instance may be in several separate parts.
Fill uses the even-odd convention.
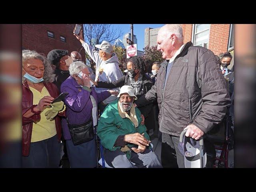
[[[191,42],[183,44],[180,25],[163,26],[157,43],[166,61],[161,64],[156,84],[136,100],[135,106],[157,98],[162,165],[167,167],[168,162],[169,167],[178,164],[184,168],[184,156],[178,150],[180,133],[187,129],[186,136],[198,140],[222,121],[230,96],[213,52]]]

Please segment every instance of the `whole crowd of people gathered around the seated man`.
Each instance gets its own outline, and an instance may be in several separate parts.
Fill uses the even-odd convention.
[[[22,50],[24,168],[96,168],[99,144],[112,168],[184,168],[178,146],[183,130],[197,141],[226,115],[234,122],[230,53],[219,58],[184,44],[182,27],[166,24],[157,36],[163,62],[152,63],[147,74],[144,59],[134,56],[122,72],[109,42],[94,48],[82,33],[74,36],[93,69],[76,51],[54,49],[46,58]],[[59,99],[61,93],[66,96]],[[152,150],[153,130],[161,133],[161,161]]]

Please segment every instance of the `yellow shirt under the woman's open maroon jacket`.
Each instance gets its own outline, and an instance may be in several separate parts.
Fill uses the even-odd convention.
[[[33,93],[33,105],[37,105],[40,99],[42,99],[44,96],[50,96],[46,87],[42,89],[42,92],[39,92],[38,90],[32,87],[29,88]],[[46,108],[41,112],[41,120],[39,122],[33,122],[31,142],[42,141],[51,138],[57,134],[55,120],[47,120],[46,116],[44,115],[44,113],[48,110],[49,108]]]

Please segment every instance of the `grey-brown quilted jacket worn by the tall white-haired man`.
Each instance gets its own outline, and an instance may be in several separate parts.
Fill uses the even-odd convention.
[[[188,42],[174,59],[164,88],[168,62],[161,64],[151,90],[135,103],[158,100],[159,130],[180,136],[188,124],[207,133],[222,121],[230,105],[227,84],[212,51]]]

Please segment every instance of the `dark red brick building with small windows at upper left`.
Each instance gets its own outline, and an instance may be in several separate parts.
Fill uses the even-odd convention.
[[[81,43],[73,35],[76,24],[22,24],[22,48],[47,56],[53,49],[78,51],[86,60]],[[82,27],[83,25],[80,24]]]

